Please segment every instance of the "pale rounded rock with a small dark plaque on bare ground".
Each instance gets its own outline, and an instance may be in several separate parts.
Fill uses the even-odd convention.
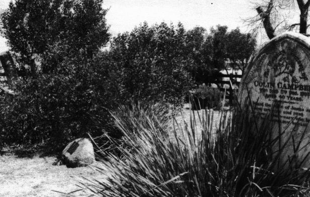
[[[82,167],[95,161],[94,148],[87,138],[78,138],[69,143],[61,155],[67,167]]]

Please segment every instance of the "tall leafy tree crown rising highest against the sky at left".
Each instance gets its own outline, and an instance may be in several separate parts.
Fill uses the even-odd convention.
[[[77,53],[91,59],[109,39],[102,0],[17,0],[2,15],[4,36],[32,76]],[[35,58],[41,66],[35,64]]]

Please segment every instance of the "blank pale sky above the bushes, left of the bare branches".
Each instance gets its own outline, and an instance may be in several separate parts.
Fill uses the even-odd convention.
[[[0,9],[8,9],[11,0],[0,0]],[[131,31],[135,26],[166,22],[181,22],[185,29],[201,26],[226,25],[229,29],[239,27],[246,32],[242,19],[253,17],[256,11],[250,0],[104,0],[103,8],[110,33]],[[7,50],[6,40],[0,37],[0,52]]]

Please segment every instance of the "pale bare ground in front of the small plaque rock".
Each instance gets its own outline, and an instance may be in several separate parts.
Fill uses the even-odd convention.
[[[70,196],[52,190],[77,190],[77,180],[82,176],[104,178],[91,167],[67,168],[65,165],[53,165],[54,161],[55,157],[0,156],[0,196]],[[86,196],[86,193],[79,191],[74,195]]]

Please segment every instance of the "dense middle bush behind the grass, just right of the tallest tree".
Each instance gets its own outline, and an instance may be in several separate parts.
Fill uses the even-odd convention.
[[[121,78],[122,96],[127,100],[164,101],[179,105],[192,87],[185,67],[191,59],[185,50],[185,30],[165,23],[144,23],[131,33],[119,34],[105,57]]]

